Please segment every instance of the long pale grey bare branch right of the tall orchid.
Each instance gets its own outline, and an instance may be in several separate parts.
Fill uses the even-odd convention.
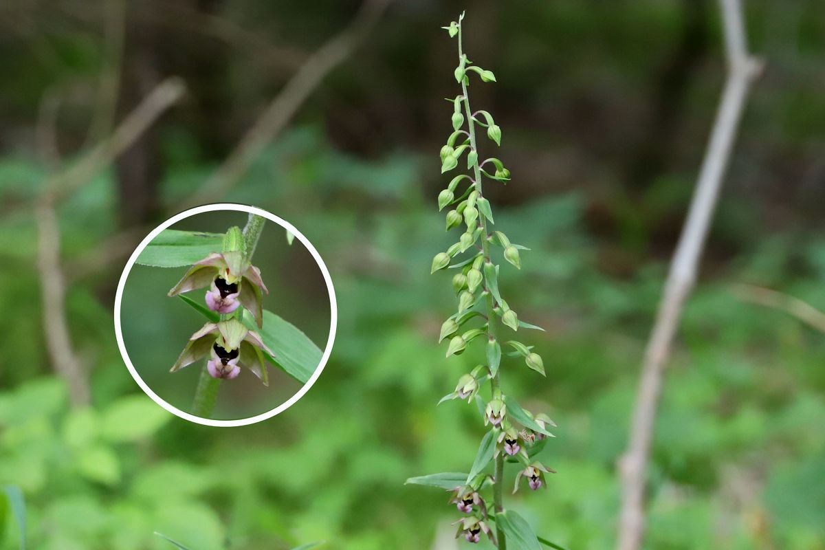
[[[671,355],[673,337],[682,308],[695,284],[702,248],[705,245],[724,172],[728,167],[747,92],[761,63],[747,53],[742,8],[739,0],[719,0],[724,21],[728,78],[714,128],[705,150],[691,208],[671,262],[658,316],[645,350],[636,397],[629,445],[620,458],[622,507],[619,519],[619,550],[638,550],[644,532],[645,472],[653,436],[662,374]]]

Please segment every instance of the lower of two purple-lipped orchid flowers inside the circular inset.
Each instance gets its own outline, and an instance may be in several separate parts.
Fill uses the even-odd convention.
[[[268,386],[264,351],[271,356],[275,355],[263,343],[261,335],[250,331],[237,319],[208,322],[190,337],[171,371],[176,372],[210,355],[206,369],[212,377],[232,379],[238,376],[243,367],[251,370],[252,374]]]

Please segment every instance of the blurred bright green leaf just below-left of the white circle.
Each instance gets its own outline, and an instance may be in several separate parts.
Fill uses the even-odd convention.
[[[106,440],[131,443],[152,435],[171,418],[145,395],[131,395],[103,411],[101,432]]]

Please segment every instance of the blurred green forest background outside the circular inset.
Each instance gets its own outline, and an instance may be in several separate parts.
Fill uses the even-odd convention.
[[[825,334],[731,289],[825,309],[825,4],[745,5],[766,71],[667,373],[646,548],[825,548]],[[469,56],[498,79],[474,86],[474,107],[501,125],[497,156],[513,175],[485,195],[497,228],[533,249],[521,272],[502,266],[500,285],[548,329],[533,335],[546,383],[505,364],[506,383],[559,424],[540,458],[559,471],[549,490],[510,501],[540,536],[611,548],[643,345],[724,82],[710,0],[394,2],[238,186],[212,197],[294,223],[339,304],[314,388],[232,430],[181,421],[139,392],[115,346],[115,284],[148,227],[214,172],[357,2],[2,2],[0,485],[26,497],[31,548],[170,548],[155,530],[194,550],[455,548],[446,494],[403,481],[464,470],[483,435],[473,407],[435,407],[475,361],[443,359],[453,297],[448,275],[428,275],[450,242],[435,198],[455,43],[439,26],[464,7]],[[92,393],[72,407],[42,336],[40,130],[56,97],[64,162],[106,135],[93,121],[119,30],[115,121],[167,75],[187,92],[59,202],[68,327]],[[162,323],[146,328],[163,336]],[[18,548],[11,518],[6,531],[0,548]]]

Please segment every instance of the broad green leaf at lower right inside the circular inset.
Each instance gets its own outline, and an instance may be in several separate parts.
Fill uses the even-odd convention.
[[[273,362],[300,383],[307,383],[318,369],[323,351],[292,323],[264,309],[262,329],[258,329],[246,310],[243,312],[243,324],[249,330],[260,333],[263,343],[275,353],[275,357],[271,358]]]

